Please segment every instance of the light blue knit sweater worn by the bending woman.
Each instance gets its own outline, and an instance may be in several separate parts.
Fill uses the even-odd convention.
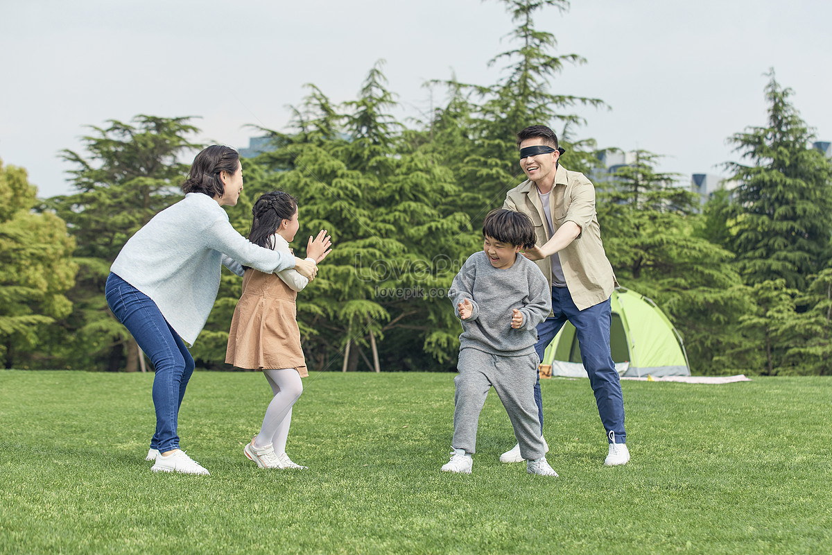
[[[206,325],[220,289],[221,266],[267,274],[295,267],[295,256],[264,249],[237,233],[210,196],[188,193],[153,216],[126,242],[110,270],[150,297],[188,344]]]

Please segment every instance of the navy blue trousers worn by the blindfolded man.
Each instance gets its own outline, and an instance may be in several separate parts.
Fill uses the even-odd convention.
[[[569,320],[577,330],[577,343],[581,347],[583,367],[589,374],[589,384],[595,393],[598,414],[601,416],[604,429],[607,430],[607,441],[616,444],[626,443],[624,395],[616,365],[612,362],[610,354],[610,300],[578,310],[566,287],[552,287],[552,314],[537,325],[537,343],[534,345],[537,356],[543,359],[543,351]],[[534,384],[534,400],[537,403],[537,417],[540,419],[542,434],[543,399],[540,394],[539,375],[537,383]]]

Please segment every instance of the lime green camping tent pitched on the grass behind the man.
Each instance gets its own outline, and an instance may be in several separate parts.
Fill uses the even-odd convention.
[[[612,292],[610,301],[610,351],[619,374],[691,375],[681,337],[656,303],[623,287]],[[563,326],[543,354],[542,364],[551,364],[554,376],[587,377],[575,326],[569,322]]]

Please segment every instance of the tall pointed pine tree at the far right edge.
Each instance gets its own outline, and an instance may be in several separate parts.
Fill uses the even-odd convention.
[[[808,147],[814,134],[790,102],[792,90],[780,87],[774,70],[768,76],[767,125],[730,137],[735,151],[750,161],[726,164],[739,182],[733,246],[748,283],[782,278],[802,290],[828,260],[832,166]]]

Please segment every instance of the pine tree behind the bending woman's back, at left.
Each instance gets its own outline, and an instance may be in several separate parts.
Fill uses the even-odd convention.
[[[112,317],[104,298],[110,265],[121,246],[157,212],[181,199],[178,186],[188,164],[179,156],[199,147],[187,139],[199,130],[190,117],[136,116],[131,123],[110,120],[91,126],[83,137],[85,153],[66,150],[64,160],[76,190],[45,203],[67,222],[77,241],[80,269],[68,293],[73,310],[62,320],[63,345],[55,355],[74,368],[127,371],[139,367],[139,350],[124,326]],[[72,340],[66,340],[66,338]]]

